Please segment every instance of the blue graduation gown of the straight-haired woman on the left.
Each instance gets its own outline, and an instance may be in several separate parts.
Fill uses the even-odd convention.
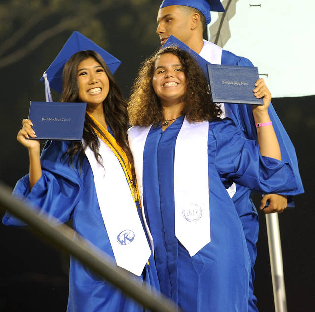
[[[68,163],[64,163],[62,156],[68,145],[69,142],[66,141],[48,142],[41,155],[42,177],[29,192],[29,178],[26,175],[17,182],[13,194],[25,198],[31,205],[40,207],[40,211],[53,215],[61,222],[72,218],[76,232],[114,258],[98,205],[91,166],[86,157],[81,169],[78,164],[74,163],[74,167],[71,167]],[[139,207],[138,213],[142,222]],[[9,214],[3,217],[3,223],[14,226],[23,225],[21,221]],[[152,254],[142,276],[138,278],[130,273],[130,278],[139,282],[144,279],[159,290]],[[67,311],[143,312],[143,308],[107,281],[100,280],[78,260],[71,257]]]

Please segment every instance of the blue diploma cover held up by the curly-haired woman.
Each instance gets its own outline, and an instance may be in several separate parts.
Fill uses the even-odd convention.
[[[252,92],[259,79],[258,68],[207,64],[214,103],[263,105]]]

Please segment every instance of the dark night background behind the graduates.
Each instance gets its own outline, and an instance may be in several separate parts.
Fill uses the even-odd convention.
[[[0,4],[0,17],[7,14],[0,22],[0,53],[2,44],[16,30],[23,28],[36,12],[42,12],[51,5],[48,1],[37,0],[12,2],[1,1]],[[19,2],[20,5],[17,4]],[[59,3],[63,9],[50,7],[51,12],[45,13],[45,19],[37,22],[15,46],[0,54],[0,180],[12,188],[28,172],[27,150],[16,141],[21,120],[28,116],[30,100],[45,100],[44,85],[39,79],[72,31],[81,31],[123,62],[115,77],[126,98],[139,64],[159,46],[155,28],[160,0],[96,0],[93,1],[94,6],[107,3],[105,9],[97,13],[92,9],[87,10],[84,1],[76,1],[75,7],[69,2],[74,3],[56,0],[55,3]],[[68,16],[73,18],[72,24],[58,35],[52,36],[30,53],[24,51],[25,56],[18,61],[1,66],[1,58],[3,60],[21,47],[27,50],[28,42],[38,33],[53,28]],[[303,75],[299,75],[303,79]],[[59,94],[54,93],[53,98],[58,101]],[[274,98],[272,102],[296,148],[305,189],[305,194],[295,198],[296,208],[287,209],[279,215],[288,311],[309,312],[314,309],[315,299],[315,212],[311,197],[315,191],[315,96]],[[258,197],[256,200],[259,200]],[[0,211],[0,217],[3,214]],[[263,213],[259,212],[259,217],[255,294],[259,310],[270,312],[274,311],[274,304],[266,222]],[[0,237],[0,311],[65,311],[68,256],[47,245],[29,229],[10,228],[1,223]]]

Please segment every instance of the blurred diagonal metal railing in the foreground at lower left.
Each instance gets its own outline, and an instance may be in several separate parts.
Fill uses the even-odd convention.
[[[70,253],[143,307],[158,312],[179,312],[174,302],[162,294],[150,291],[150,285],[132,279],[130,274],[116,266],[114,260],[91,242],[81,237],[52,216],[40,215],[25,203],[11,196],[11,190],[0,182],[0,208],[9,211],[44,235],[56,247]]]

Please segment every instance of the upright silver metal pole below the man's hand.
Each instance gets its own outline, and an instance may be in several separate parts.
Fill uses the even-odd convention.
[[[275,312],[287,312],[278,213],[266,214]]]

